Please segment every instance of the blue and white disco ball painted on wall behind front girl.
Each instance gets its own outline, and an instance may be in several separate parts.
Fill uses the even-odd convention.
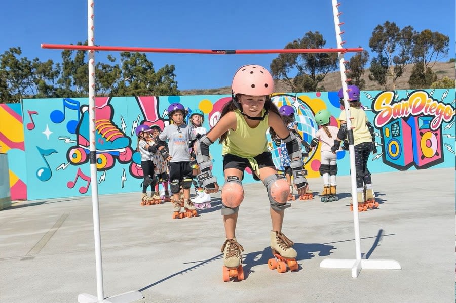
[[[299,135],[302,137],[304,141],[306,141],[308,144],[312,141],[312,139],[315,137],[315,134],[318,131],[318,125],[317,122],[315,122],[314,118],[314,113],[312,110],[309,108],[309,106],[302,102],[297,96],[292,96],[292,95],[274,95],[271,97],[272,102],[277,106],[277,108],[280,108],[283,105],[290,105],[294,108],[295,111],[295,119],[297,124],[297,129]],[[279,170],[283,170],[283,167],[281,167],[280,163],[280,155],[281,155],[281,148],[280,146],[276,146],[274,142],[272,142],[271,137],[269,136],[268,133],[268,147],[271,150],[272,156],[273,156],[273,161],[274,165]],[[312,159],[314,153],[315,153],[315,148],[309,153],[308,157],[303,158],[304,163],[306,164],[307,162]],[[301,148],[302,152],[305,152],[304,146]]]

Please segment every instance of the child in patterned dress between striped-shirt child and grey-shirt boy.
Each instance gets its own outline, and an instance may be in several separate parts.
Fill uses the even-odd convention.
[[[161,133],[161,128],[159,125],[151,125],[150,129],[152,130],[152,140],[153,144],[157,143],[157,137]],[[154,162],[155,166],[155,175],[157,175],[157,185],[156,185],[156,192],[160,193],[160,199],[165,202],[170,201],[170,195],[168,191],[168,162],[163,159],[160,152],[157,150],[155,153],[152,154],[152,162]],[[162,189],[159,190],[159,183],[162,184]]]

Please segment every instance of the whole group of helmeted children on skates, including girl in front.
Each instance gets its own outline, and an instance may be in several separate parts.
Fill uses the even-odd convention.
[[[233,77],[232,100],[225,104],[218,122],[208,132],[206,129],[198,129],[204,119],[201,112],[198,112],[198,119],[195,119],[198,121],[194,123],[190,117],[192,126],[187,126],[185,109],[179,103],[173,103],[168,108],[172,123],[154,137],[155,141],[143,140],[146,130],[136,132],[138,149],[141,156],[145,155],[141,158],[142,161],[148,161],[149,155],[145,151],[149,151],[150,157],[158,153],[161,160],[169,162],[170,190],[174,198],[173,218],[182,218],[178,215],[182,207],[180,193],[183,195],[185,212],[196,214],[195,199],[190,199],[194,175],[205,194],[218,192],[217,179],[212,175],[209,147],[217,140],[222,144],[225,180],[221,188],[221,214],[226,238],[221,252],[225,281],[230,277],[243,279],[241,253],[244,248],[236,238],[236,225],[239,207],[244,200],[242,180],[247,167],[251,169],[254,179],[261,180],[268,194],[272,224],[270,245],[275,257],[270,259],[269,266],[277,268],[278,271],[279,268],[283,271],[285,266],[291,270],[297,269],[297,252],[292,247],[294,243],[282,233],[285,209],[290,207],[290,203],[287,203],[290,193],[295,189],[300,197],[312,194],[305,177],[307,172],[303,167],[302,144],[309,152],[321,143],[320,174],[324,185],[322,202],[336,199],[336,153],[341,150],[341,143],[344,143],[344,146],[354,145],[358,209],[365,210],[367,205],[370,205],[366,201],[371,201],[371,207],[374,207],[372,201],[375,197],[367,161],[370,153],[376,152],[375,136],[361,107],[359,89],[349,85],[347,90],[352,117],[351,129],[347,129],[345,110],[341,111],[339,116],[340,127],[331,126],[331,114],[327,110],[321,110],[315,115],[320,129],[310,144],[304,143],[297,132],[293,107],[285,105],[277,108],[270,98],[273,92],[274,80],[267,69],[259,65],[245,65],[240,67]],[[339,91],[339,97],[342,101],[341,109],[344,109],[342,90]],[[271,139],[281,148],[281,165],[284,167],[285,176],[278,174],[273,163],[268,149],[268,131]],[[143,149],[145,151],[142,151]],[[160,176],[165,184],[166,193],[168,178],[164,171],[160,170],[163,166],[155,161],[153,163],[156,169],[159,166],[156,175]],[[147,195],[146,184],[150,182],[153,187],[155,185],[153,179],[148,180],[151,178],[152,166],[150,163],[147,165],[142,166],[145,176],[143,195]],[[198,170],[195,171],[192,166],[198,167]]]

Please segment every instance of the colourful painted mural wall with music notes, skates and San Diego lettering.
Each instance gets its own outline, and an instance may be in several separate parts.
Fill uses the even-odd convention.
[[[180,102],[189,111],[203,111],[203,126],[210,129],[230,100],[228,95],[96,98],[99,194],[141,191],[137,125],[163,128],[169,124],[167,107]],[[318,129],[314,114],[319,110],[328,109],[331,124],[338,126],[336,92],[275,94],[272,100],[295,108],[298,132],[308,143]],[[454,89],[366,91],[361,102],[377,137],[378,154],[368,163],[371,172],[454,167]],[[21,105],[0,105],[0,152],[9,156],[12,199],[90,195],[88,98],[26,99]],[[280,148],[272,142],[269,148],[281,169]],[[221,184],[221,145],[211,145],[210,152]],[[349,175],[347,152],[337,157],[338,175]],[[319,148],[305,158],[309,178],[320,177],[320,159]],[[243,182],[256,182],[250,170]]]

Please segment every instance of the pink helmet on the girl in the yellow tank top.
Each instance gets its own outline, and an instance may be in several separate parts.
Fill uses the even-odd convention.
[[[274,91],[274,80],[264,67],[254,64],[244,65],[236,71],[231,91],[233,95],[271,95]]]

